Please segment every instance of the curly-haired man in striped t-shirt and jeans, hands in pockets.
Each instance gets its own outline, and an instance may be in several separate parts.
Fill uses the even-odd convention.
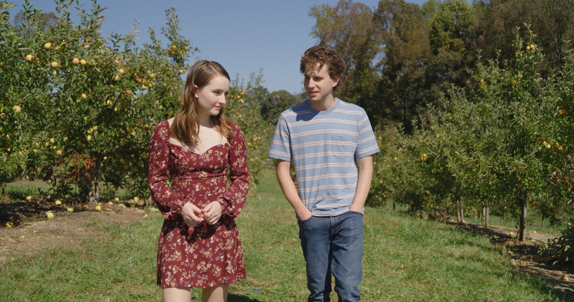
[[[297,214],[309,302],[331,301],[331,274],[339,301],[360,298],[363,205],[373,176],[371,155],[379,148],[364,110],[333,97],[344,69],[331,46],[305,51],[300,70],[309,99],[281,113],[269,150]],[[289,174],[291,161],[298,192]]]

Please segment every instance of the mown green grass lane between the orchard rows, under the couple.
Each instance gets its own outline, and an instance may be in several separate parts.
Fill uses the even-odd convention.
[[[237,220],[248,277],[231,286],[228,301],[305,301],[294,212],[272,171],[259,179],[258,196]],[[153,212],[127,227],[102,225],[108,236],[87,238],[78,249],[7,264],[0,268],[0,301],[160,301],[161,218]],[[364,222],[362,301],[569,301],[511,267],[474,233],[379,208],[367,208]],[[199,293],[193,291],[194,301]]]

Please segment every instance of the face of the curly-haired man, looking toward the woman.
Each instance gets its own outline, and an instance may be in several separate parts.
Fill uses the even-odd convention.
[[[304,86],[309,101],[313,102],[327,100],[329,96],[332,96],[333,87],[339,82],[339,78],[331,78],[327,64],[323,64],[321,68],[319,65],[320,63],[317,63],[314,67],[305,67]]]

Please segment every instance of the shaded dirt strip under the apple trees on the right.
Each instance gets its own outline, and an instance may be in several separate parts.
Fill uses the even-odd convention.
[[[554,291],[565,293],[569,296],[566,301],[574,301],[574,268],[566,265],[552,265],[552,263],[543,263],[537,261],[537,252],[540,245],[548,243],[548,239],[556,238],[556,235],[528,231],[525,242],[518,241],[517,229],[508,226],[491,225],[488,228],[482,228],[480,224],[456,224],[461,228],[486,235],[490,242],[506,253],[510,258],[510,263],[516,269],[540,276],[548,282]],[[513,235],[510,235],[513,232]],[[563,280],[567,276],[568,280]]]

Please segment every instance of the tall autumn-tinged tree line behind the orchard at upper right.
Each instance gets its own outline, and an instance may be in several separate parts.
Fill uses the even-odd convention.
[[[468,89],[468,69],[483,60],[513,58],[513,29],[531,23],[545,50],[545,74],[560,69],[574,37],[569,0],[430,0],[422,6],[381,0],[371,8],[342,0],[316,5],[311,35],[333,45],[347,63],[338,96],[367,110],[377,125],[410,122],[451,85]],[[522,31],[522,34],[524,32]]]

